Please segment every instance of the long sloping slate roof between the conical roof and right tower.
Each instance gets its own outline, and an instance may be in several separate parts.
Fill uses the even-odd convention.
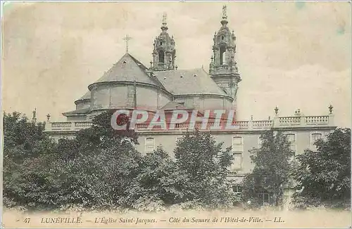
[[[217,94],[227,96],[202,68],[194,70],[169,70],[153,72],[166,90],[176,95]]]

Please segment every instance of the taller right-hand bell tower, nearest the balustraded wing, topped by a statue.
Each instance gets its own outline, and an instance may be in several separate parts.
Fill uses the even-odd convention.
[[[241,77],[234,59],[236,37],[234,32],[230,32],[229,27],[227,27],[226,6],[222,7],[222,20],[220,22],[222,26],[213,37],[213,55],[210,58],[209,74],[222,90],[234,98],[234,104],[236,104],[237,88]]]

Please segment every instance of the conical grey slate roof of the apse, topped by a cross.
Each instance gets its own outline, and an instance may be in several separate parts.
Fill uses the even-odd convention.
[[[111,67],[110,70],[103,74],[103,77],[98,79],[95,83],[109,82],[109,81],[134,81],[146,84],[153,84],[162,86],[157,79],[150,77],[146,71],[148,68],[139,62],[129,53],[122,56],[117,63]]]

